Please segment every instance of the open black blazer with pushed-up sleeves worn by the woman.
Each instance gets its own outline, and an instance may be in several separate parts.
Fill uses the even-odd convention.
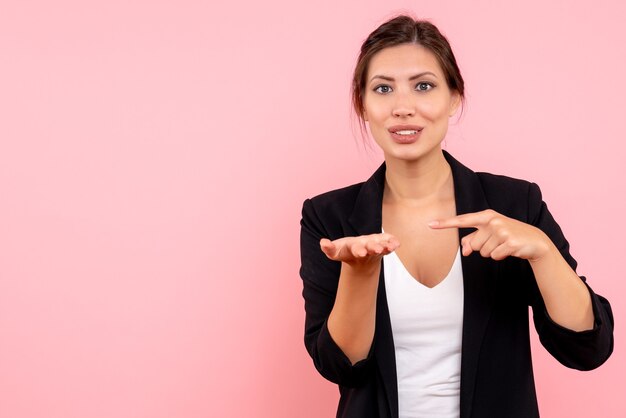
[[[576,270],[569,244],[535,183],[476,173],[449,153],[457,214],[487,208],[543,230]],[[337,417],[397,418],[394,343],[385,295],[384,269],[376,302],[376,330],[368,357],[352,365],[331,338],[327,319],[333,307],[341,263],[320,249],[331,240],[381,232],[385,164],[364,183],[307,199],[302,208],[300,276],[305,302],[304,342],[315,367],[339,385]],[[473,229],[461,228],[459,239]],[[464,317],[461,360],[461,418],[538,417],[531,364],[528,306],[543,346],[562,364],[579,370],[600,366],[613,351],[613,315],[608,301],[591,288],[595,323],[574,332],[553,322],[526,260],[502,261],[473,252],[463,256]],[[581,276],[585,281],[585,277]],[[588,286],[587,286],[588,287]]]

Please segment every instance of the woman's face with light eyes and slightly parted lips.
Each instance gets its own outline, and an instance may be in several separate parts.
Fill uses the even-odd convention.
[[[435,55],[416,44],[385,48],[370,60],[366,77],[363,117],[385,159],[416,161],[440,153],[461,100]]]

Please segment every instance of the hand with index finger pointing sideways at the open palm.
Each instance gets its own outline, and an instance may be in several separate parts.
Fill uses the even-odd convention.
[[[461,240],[462,254],[480,251],[483,257],[503,260],[508,256],[536,261],[547,254],[550,238],[539,228],[487,209],[433,221],[433,229],[477,228]]]

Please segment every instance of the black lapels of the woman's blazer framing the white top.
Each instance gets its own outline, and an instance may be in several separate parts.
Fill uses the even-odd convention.
[[[454,182],[457,215],[478,212],[489,208],[478,175],[461,164],[447,151],[443,155],[450,164]],[[382,230],[382,200],[385,188],[386,164],[383,163],[363,183],[354,209],[348,218],[358,235],[376,234]],[[459,241],[472,232],[459,229]],[[469,417],[474,394],[476,371],[483,335],[493,304],[493,288],[497,264],[473,252],[462,258],[463,270],[463,344],[461,353],[461,418]],[[388,408],[392,417],[398,416],[398,388],[395,349],[389,318],[389,307],[381,268],[377,296],[376,337],[374,350],[379,372],[384,383]]]

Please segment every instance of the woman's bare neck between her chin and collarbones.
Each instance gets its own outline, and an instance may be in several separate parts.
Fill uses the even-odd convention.
[[[385,159],[385,200],[422,204],[454,193],[452,170],[441,149],[419,160]]]

